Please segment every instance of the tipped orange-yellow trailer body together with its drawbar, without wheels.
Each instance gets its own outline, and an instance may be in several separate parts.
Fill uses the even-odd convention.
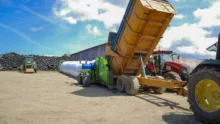
[[[140,85],[176,89],[186,95],[186,82],[149,77],[142,69],[175,14],[166,0],[130,0],[118,33],[109,33],[105,51],[115,77],[137,76]]]

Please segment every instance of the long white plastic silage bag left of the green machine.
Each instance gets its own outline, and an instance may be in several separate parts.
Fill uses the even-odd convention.
[[[94,62],[95,60],[87,61],[87,64]],[[79,71],[82,69],[82,64],[85,63],[85,61],[81,61],[81,63],[80,61],[66,61],[59,66],[59,71],[73,77],[77,77],[79,75]]]

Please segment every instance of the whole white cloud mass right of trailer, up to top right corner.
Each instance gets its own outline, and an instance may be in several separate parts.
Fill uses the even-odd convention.
[[[219,6],[220,0],[217,0],[210,7],[195,10],[194,18],[198,19],[196,23],[168,28],[159,45],[187,57],[214,58],[216,53],[206,49],[217,42],[216,32],[220,31]]]

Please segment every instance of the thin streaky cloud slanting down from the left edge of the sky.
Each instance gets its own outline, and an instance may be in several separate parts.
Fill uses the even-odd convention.
[[[7,26],[7,25],[4,25],[4,24],[1,24],[1,23],[0,23],[0,27],[5,28],[5,29],[7,29],[7,30],[9,30],[9,31],[14,32],[14,33],[17,34],[19,37],[21,37],[22,39],[24,39],[25,41],[27,41],[28,43],[31,43],[31,44],[33,44],[33,45],[37,45],[37,46],[39,46],[39,47],[48,49],[48,47],[43,46],[42,44],[40,44],[40,43],[38,43],[37,41],[35,41],[35,40],[31,39],[30,37],[28,37],[26,34],[24,34],[24,33],[22,33],[22,32],[19,32],[19,31],[15,30],[14,28],[11,28],[11,27],[9,27],[9,26]]]

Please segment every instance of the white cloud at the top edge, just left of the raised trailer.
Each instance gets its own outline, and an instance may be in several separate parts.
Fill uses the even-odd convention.
[[[104,23],[106,28],[120,24],[125,7],[116,6],[106,0],[57,0],[54,14],[69,22],[95,20]]]

